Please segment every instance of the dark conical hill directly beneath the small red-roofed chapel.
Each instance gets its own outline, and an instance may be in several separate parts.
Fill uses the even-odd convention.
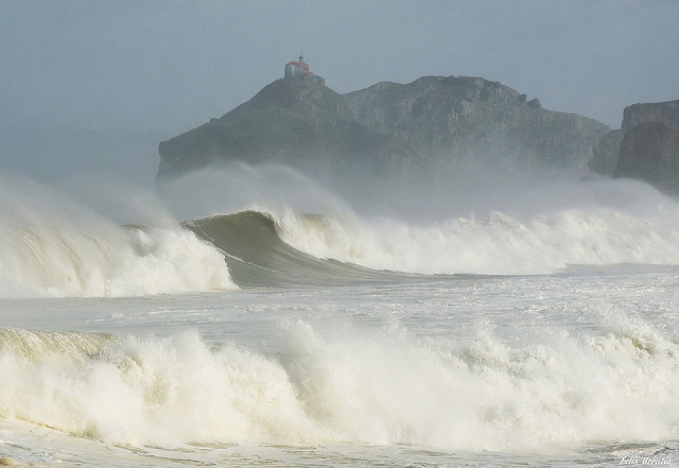
[[[320,76],[291,76],[269,84],[223,117],[161,142],[158,176],[226,161],[327,169],[369,161],[378,166],[412,151],[354,121],[346,99]]]

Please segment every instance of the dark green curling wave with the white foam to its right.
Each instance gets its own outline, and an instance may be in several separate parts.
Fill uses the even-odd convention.
[[[494,212],[483,219],[458,217],[417,226],[264,209],[185,226],[226,252],[239,285],[535,275],[578,265],[679,265],[679,216],[667,214],[562,210],[524,222]]]

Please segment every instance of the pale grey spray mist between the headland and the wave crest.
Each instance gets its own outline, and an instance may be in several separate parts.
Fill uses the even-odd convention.
[[[675,210],[676,200],[641,181],[582,176],[567,169],[523,171],[484,161],[426,171],[351,174],[300,171],[276,164],[212,166],[159,181],[158,193],[178,219],[258,207],[299,214],[354,214],[426,225],[492,212],[528,220],[567,209],[618,210],[637,216]]]

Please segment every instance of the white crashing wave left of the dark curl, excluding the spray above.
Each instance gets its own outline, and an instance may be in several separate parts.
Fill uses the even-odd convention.
[[[214,247],[182,229],[109,227],[91,232],[15,226],[0,232],[0,293],[134,296],[228,290]]]

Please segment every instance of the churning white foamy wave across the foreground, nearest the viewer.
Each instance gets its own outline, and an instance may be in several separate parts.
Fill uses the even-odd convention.
[[[679,421],[679,347],[643,324],[507,346],[297,322],[277,355],[195,333],[0,336],[1,417],[109,443],[544,450],[674,438]]]

